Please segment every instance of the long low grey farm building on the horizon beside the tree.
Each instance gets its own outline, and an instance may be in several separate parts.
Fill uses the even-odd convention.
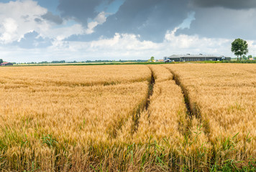
[[[191,62],[191,61],[221,61],[231,60],[231,57],[204,55],[204,54],[186,54],[186,55],[171,55],[170,57],[164,57],[164,62]]]

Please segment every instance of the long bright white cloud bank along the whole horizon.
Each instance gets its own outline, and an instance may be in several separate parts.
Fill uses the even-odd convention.
[[[161,43],[141,41],[140,35],[116,33],[110,39],[92,42],[66,42],[55,40],[46,49],[3,49],[3,57],[11,62],[41,62],[51,60],[83,61],[87,59],[161,59],[171,54],[216,54],[231,56],[232,39],[210,39],[198,35],[175,35],[177,28],[168,31]],[[248,41],[249,49],[255,49],[255,42]],[[254,55],[251,51],[250,54]],[[12,57],[12,58],[10,58]],[[233,56],[234,57],[234,56]]]

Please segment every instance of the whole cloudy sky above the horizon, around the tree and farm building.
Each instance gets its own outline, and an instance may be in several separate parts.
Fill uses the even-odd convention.
[[[256,54],[255,0],[0,0],[0,59],[9,62]]]

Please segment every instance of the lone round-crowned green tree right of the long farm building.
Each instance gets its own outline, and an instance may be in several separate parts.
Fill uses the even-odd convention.
[[[234,42],[232,42],[231,45],[231,51],[237,56],[237,60],[239,56],[240,60],[242,60],[242,55],[248,53],[248,44],[243,39],[234,39]]]

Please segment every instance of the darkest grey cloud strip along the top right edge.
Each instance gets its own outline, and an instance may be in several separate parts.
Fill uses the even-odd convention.
[[[192,0],[191,4],[199,7],[224,7],[227,9],[256,8],[255,0]]]

